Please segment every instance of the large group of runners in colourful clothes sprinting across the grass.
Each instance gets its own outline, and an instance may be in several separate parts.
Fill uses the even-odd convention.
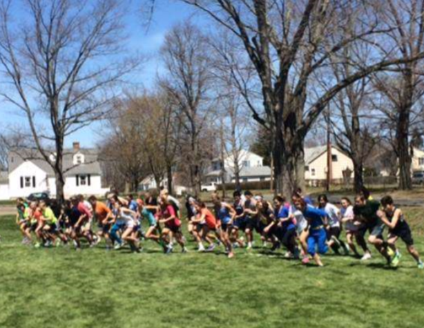
[[[253,234],[258,233],[262,247],[270,247],[271,251],[284,248],[285,257],[299,259],[304,264],[312,259],[322,267],[321,255],[329,249],[336,254],[351,253],[361,260],[369,260],[372,253],[368,244],[372,244],[389,266],[397,267],[401,253],[396,242],[401,238],[418,268],[424,268],[405,215],[390,196],[377,202],[364,189],[356,195],[354,203],[343,197],[340,209],[326,195],[318,196],[315,207],[300,189],[290,200],[277,195],[269,202],[260,194],[235,191],[232,204],[224,202],[217,193],[213,193],[211,202],[208,209],[202,200],[186,197],[188,232],[200,252],[211,252],[221,246],[233,258],[235,248],[252,249]],[[138,253],[142,241],[152,240],[164,253],[173,253],[176,243],[180,244],[182,253],[187,251],[180,202],[166,189],[158,197],[146,193],[137,199],[113,192],[106,195],[106,202],[95,196],[85,200],[77,195],[62,206],[55,201],[27,203],[19,199],[17,210],[23,244],[35,247],[73,244],[80,250],[81,240],[86,240],[89,247],[105,240],[106,249],[120,249],[128,244],[131,251]],[[343,230],[346,242],[341,238]],[[367,231],[369,237],[365,240]]]

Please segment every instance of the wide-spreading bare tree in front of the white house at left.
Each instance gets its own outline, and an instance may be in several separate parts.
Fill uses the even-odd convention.
[[[12,17],[12,1],[1,1],[0,64],[3,82],[11,86],[1,96],[26,117],[37,151],[55,172],[59,202],[64,140],[104,117],[117,83],[139,64],[122,56],[121,5],[119,0],[21,0],[19,6],[28,9],[22,21]],[[40,124],[43,117],[47,124]]]

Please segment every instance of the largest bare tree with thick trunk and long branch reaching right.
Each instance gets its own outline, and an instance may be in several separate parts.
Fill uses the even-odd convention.
[[[380,24],[376,10],[383,8],[383,1],[181,1],[205,12],[244,46],[244,54],[260,83],[262,106],[250,101],[249,94],[244,96],[253,118],[273,135],[273,166],[279,193],[291,193],[295,186],[305,183],[305,137],[340,90],[376,71],[423,57],[418,52],[407,59],[374,58],[342,81],[327,81],[329,87],[320,95],[311,95],[314,77],[327,68],[332,56],[359,41],[378,48],[378,35],[394,28]],[[355,28],[343,30],[352,19]],[[335,42],[328,37],[333,33],[338,33]]]

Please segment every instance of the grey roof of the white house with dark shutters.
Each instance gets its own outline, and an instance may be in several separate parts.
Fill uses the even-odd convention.
[[[74,165],[73,157],[77,153],[84,155],[84,164]],[[65,176],[91,174],[101,175],[102,168],[98,161],[98,153],[95,149],[80,148],[74,151],[73,148],[64,149],[64,171]],[[13,159],[13,160],[12,160]],[[9,173],[15,170],[23,162],[30,161],[41,170],[47,173],[48,176],[55,176],[55,172],[46,160],[41,157],[41,154],[35,149],[18,149],[9,153]]]

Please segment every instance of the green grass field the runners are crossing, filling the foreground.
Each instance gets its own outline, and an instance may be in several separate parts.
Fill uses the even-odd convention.
[[[424,254],[422,212],[408,209]],[[0,218],[0,327],[423,327],[424,271],[405,247],[398,269],[327,255],[304,267],[282,253],[164,255],[102,246],[32,249]]]

